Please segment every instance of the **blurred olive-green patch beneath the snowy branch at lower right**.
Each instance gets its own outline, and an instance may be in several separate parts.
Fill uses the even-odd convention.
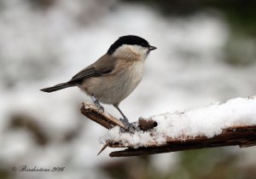
[[[229,151],[230,147],[182,152],[181,165],[191,179],[253,179],[255,165],[242,165],[242,157]],[[179,176],[179,170],[176,171]],[[172,176],[173,174],[171,174]],[[174,172],[175,175],[175,172]],[[173,178],[177,178],[174,176]]]

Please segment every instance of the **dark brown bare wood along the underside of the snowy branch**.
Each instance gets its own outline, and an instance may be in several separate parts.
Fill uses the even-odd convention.
[[[251,147],[256,145],[256,125],[253,126],[236,126],[224,130],[220,135],[212,138],[206,136],[186,137],[185,139],[167,138],[166,144],[150,147],[138,147],[116,151],[110,153],[110,157],[130,157],[154,153],[170,153],[175,151],[184,151],[208,147],[224,147],[224,146],[240,146]],[[124,147],[115,143],[109,147]]]

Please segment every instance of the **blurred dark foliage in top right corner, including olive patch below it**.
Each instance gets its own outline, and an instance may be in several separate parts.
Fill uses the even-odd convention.
[[[167,17],[183,17],[205,12],[221,14],[230,26],[230,39],[224,49],[224,61],[233,66],[256,62],[256,2],[242,0],[123,0],[145,3]],[[218,38],[218,37],[216,37]]]

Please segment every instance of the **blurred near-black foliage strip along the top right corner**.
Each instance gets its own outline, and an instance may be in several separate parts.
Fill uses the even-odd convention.
[[[126,2],[142,2],[159,9],[162,14],[170,16],[192,15],[202,10],[216,9],[223,13],[232,26],[247,35],[256,35],[256,2],[242,0],[124,0]]]

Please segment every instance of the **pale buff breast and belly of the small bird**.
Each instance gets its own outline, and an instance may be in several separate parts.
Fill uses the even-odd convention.
[[[89,78],[79,86],[87,95],[94,95],[99,101],[119,104],[143,79],[143,62],[137,62],[129,68],[113,75]]]

